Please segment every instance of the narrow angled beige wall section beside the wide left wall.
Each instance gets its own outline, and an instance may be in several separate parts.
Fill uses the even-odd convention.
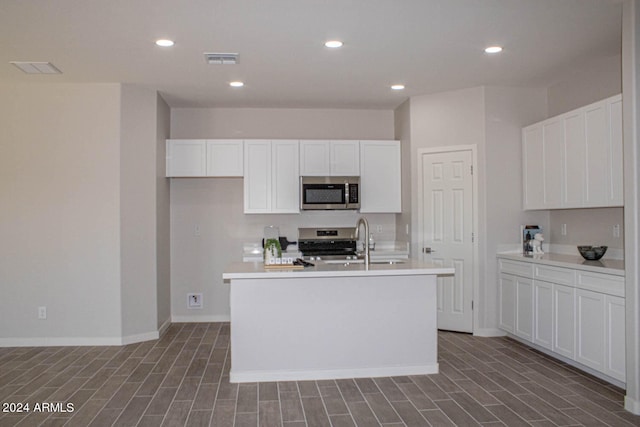
[[[120,263],[127,339],[157,331],[156,98],[154,90],[122,86]]]

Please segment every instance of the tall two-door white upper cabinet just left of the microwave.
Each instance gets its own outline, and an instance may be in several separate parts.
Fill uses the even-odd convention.
[[[298,213],[298,141],[245,141],[244,212]]]

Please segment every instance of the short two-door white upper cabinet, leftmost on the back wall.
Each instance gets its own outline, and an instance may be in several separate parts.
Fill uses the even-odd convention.
[[[167,177],[242,176],[242,169],[242,140],[167,140]]]

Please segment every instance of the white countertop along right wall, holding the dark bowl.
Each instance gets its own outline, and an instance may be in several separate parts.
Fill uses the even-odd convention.
[[[580,255],[552,254],[523,255],[515,252],[498,253],[498,258],[514,261],[524,261],[536,264],[554,265],[556,267],[573,268],[576,270],[593,271],[596,273],[614,274],[624,276],[624,260],[601,259],[599,261],[587,261]]]

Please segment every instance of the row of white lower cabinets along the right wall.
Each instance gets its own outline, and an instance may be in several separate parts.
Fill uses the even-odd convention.
[[[621,276],[499,260],[499,327],[625,382]]]

